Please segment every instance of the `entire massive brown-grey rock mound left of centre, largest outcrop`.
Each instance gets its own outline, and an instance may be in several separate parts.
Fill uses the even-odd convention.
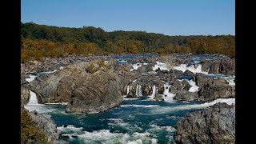
[[[39,103],[69,102],[66,112],[97,113],[122,102],[122,77],[102,61],[79,62],[29,83]]]

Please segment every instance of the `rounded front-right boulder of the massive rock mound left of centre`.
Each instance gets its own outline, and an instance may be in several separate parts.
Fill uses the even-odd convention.
[[[82,86],[72,90],[66,112],[94,114],[118,106],[123,100],[121,82],[116,74],[105,71],[88,76]]]

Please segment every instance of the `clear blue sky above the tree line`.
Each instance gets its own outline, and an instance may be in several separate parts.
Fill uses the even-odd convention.
[[[167,35],[235,34],[234,0],[22,0],[22,22],[142,30]]]

